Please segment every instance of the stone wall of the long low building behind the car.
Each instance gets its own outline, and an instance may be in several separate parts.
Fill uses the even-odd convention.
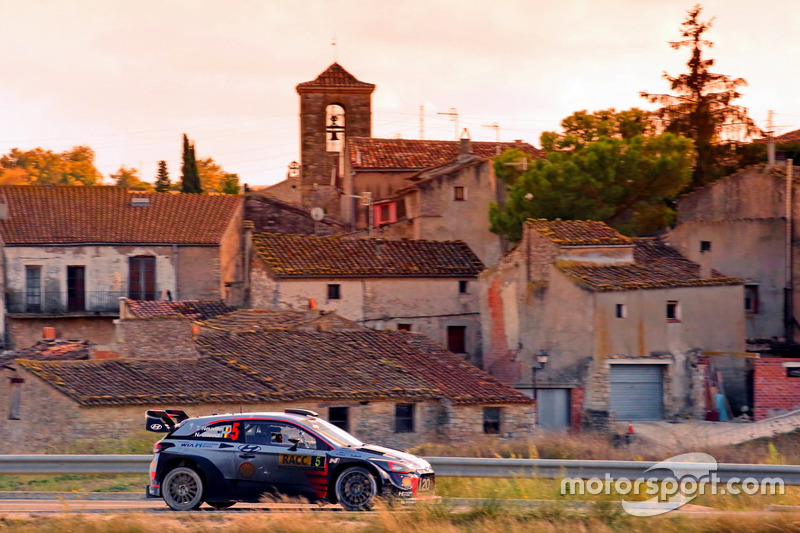
[[[2,372],[0,382],[0,453],[46,453],[80,449],[80,441],[97,439],[125,440],[140,434],[144,428],[144,411],[150,408],[183,409],[191,416],[212,413],[238,413],[240,410],[282,411],[286,408],[303,408],[317,411],[328,418],[329,407],[349,407],[350,432],[361,440],[407,449],[426,442],[469,442],[483,436],[482,406],[450,406],[447,402],[416,402],[414,432],[396,433],[394,426],[395,402],[293,402],[265,404],[215,404],[215,405],[141,405],[126,407],[79,407],[66,396],[21,370],[14,373],[25,379],[22,384],[21,420],[8,420],[9,384]],[[402,402],[401,402],[402,403]],[[531,406],[506,405],[501,407],[501,435],[499,438],[529,438],[533,436]],[[57,413],[57,417],[54,417]],[[159,435],[153,433],[153,442]]]

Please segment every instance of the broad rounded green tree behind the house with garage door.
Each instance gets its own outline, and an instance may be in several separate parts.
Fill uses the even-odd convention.
[[[689,139],[662,133],[600,137],[529,161],[524,172],[520,157],[510,150],[495,158],[509,197],[489,212],[491,230],[511,241],[522,237],[528,218],[601,220],[628,235],[663,228],[674,215],[668,201],[690,181],[694,150]]]

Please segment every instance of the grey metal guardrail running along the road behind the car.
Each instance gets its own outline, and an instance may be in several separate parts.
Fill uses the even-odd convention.
[[[0,475],[26,474],[144,474],[152,455],[0,455]],[[561,459],[484,459],[475,457],[427,457],[441,477],[621,477],[666,479],[666,469],[646,472],[657,464],[649,461],[580,461]],[[671,463],[680,467],[680,463]],[[696,463],[686,463],[688,469]],[[780,478],[785,485],[800,485],[800,466],[720,463],[713,469],[720,481]]]

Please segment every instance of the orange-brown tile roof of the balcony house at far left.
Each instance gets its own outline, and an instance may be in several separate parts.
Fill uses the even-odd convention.
[[[150,205],[132,207],[132,198]],[[0,220],[6,245],[217,244],[242,197],[128,192],[122,187],[0,186],[8,218]]]

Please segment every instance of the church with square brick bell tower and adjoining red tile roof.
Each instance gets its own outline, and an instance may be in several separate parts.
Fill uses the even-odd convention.
[[[418,180],[426,169],[447,165],[462,150],[459,141],[380,139],[372,137],[372,93],[375,85],[358,80],[334,63],[316,79],[297,85],[300,96],[299,165],[292,163],[286,180],[261,191],[308,211],[319,207],[350,229],[365,229],[374,220],[403,217],[404,204],[395,195]],[[516,148],[531,157],[542,152],[522,141],[473,142],[475,156],[491,159]],[[482,177],[483,176],[482,174]],[[495,191],[490,179],[474,182],[475,199]],[[363,199],[362,199],[363,198]],[[391,214],[390,214],[391,213]],[[428,225],[430,226],[430,225]],[[488,226],[488,221],[487,221]],[[441,236],[459,233],[459,224],[443,227]],[[429,227],[428,233],[434,228]],[[305,233],[305,232],[304,232]],[[467,237],[464,231],[458,238]]]

